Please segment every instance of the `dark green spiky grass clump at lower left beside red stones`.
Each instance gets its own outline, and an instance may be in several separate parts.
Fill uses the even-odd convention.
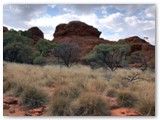
[[[32,86],[26,87],[20,97],[23,105],[36,108],[44,105],[47,95],[41,89]]]

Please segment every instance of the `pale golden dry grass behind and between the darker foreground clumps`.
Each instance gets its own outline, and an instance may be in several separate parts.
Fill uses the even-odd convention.
[[[126,79],[126,77],[131,78],[137,73],[135,82],[129,82]],[[82,94],[94,93],[97,96],[100,94],[116,97],[119,92],[128,91],[138,98],[136,109],[144,115],[154,114],[155,73],[149,70],[142,72],[138,69],[117,69],[115,72],[111,72],[104,69],[92,70],[83,65],[67,68],[59,65],[41,67],[4,62],[3,76],[4,94],[12,90],[13,96],[23,97],[23,91],[34,86],[48,94],[48,104],[60,105],[58,98],[60,100],[67,98],[71,102],[71,108],[74,108],[72,103],[76,103],[75,101],[83,98]],[[54,85],[54,88],[48,92],[50,85]],[[49,94],[51,92],[52,94]],[[37,93],[39,92],[37,91]],[[66,101],[62,100],[62,102],[65,106]],[[148,105],[151,107],[147,109],[148,111],[143,112]],[[66,109],[68,107],[70,106],[66,106]],[[55,108],[50,108],[50,110],[53,110],[54,113]],[[64,111],[64,115],[68,115],[70,112],[73,114],[73,111]],[[50,115],[53,115],[53,113],[49,112]],[[55,115],[58,114],[55,113]]]

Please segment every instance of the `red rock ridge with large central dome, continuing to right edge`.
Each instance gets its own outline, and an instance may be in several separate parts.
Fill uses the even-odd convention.
[[[80,57],[89,53],[96,45],[101,43],[104,44],[117,44],[118,42],[113,42],[109,40],[104,40],[99,38],[101,32],[99,32],[93,26],[89,26],[86,23],[79,21],[72,21],[68,24],[60,24],[56,27],[54,33],[54,39],[52,42],[75,42],[80,46]],[[122,40],[122,42],[131,44],[131,51],[127,54],[130,56],[135,51],[146,51],[146,54],[153,54],[155,52],[155,47],[150,45],[145,40],[139,38],[138,36],[133,36]],[[148,57],[148,58],[147,58]],[[146,56],[147,60],[152,58]]]

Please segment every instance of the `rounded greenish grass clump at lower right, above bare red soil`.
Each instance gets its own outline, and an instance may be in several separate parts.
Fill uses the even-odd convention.
[[[134,107],[137,97],[129,92],[120,92],[117,95],[117,100],[124,107]]]

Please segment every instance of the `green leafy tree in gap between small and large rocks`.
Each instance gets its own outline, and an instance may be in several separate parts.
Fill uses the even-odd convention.
[[[53,45],[50,43],[50,41],[41,39],[36,43],[36,48],[40,51],[43,57],[46,57],[48,56],[49,50],[53,48]]]

